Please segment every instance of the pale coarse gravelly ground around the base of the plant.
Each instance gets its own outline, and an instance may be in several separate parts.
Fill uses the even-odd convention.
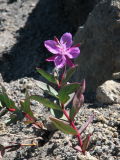
[[[43,95],[43,92],[38,87],[39,81],[32,78],[23,78],[11,83],[3,83],[7,89],[9,96],[18,103],[20,99],[24,99],[24,89],[27,88],[29,94]],[[34,127],[25,126],[22,122],[16,125],[5,125],[8,115],[1,119],[0,142],[7,145],[8,142],[31,143],[35,137],[42,137],[44,140],[37,139],[39,147],[23,147],[17,152],[5,154],[5,159],[57,159],[57,160],[76,160],[82,159],[81,154],[77,153],[73,146],[77,144],[76,139],[61,133],[60,131],[51,131],[50,115],[47,108],[42,105],[32,102],[31,108],[35,116],[44,123],[48,128],[48,132],[37,130]],[[84,108],[76,117],[76,125],[80,127],[87,117],[94,112],[96,117],[90,127],[86,130],[93,131],[93,136],[89,146],[89,153],[92,159],[98,160],[117,160],[120,157],[120,105],[95,105],[85,104]],[[32,138],[33,137],[33,138]],[[31,138],[31,139],[29,139]],[[90,155],[88,158],[90,159]]]

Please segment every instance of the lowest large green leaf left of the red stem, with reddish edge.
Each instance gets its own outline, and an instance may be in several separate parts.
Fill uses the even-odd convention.
[[[77,135],[77,131],[74,130],[67,122],[59,120],[57,118],[50,117],[53,124],[65,134]]]

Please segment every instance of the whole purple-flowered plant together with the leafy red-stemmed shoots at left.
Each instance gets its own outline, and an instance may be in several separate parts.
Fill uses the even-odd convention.
[[[80,45],[72,46],[72,44],[71,33],[63,34],[60,40],[55,37],[54,40],[46,40],[44,42],[44,46],[53,54],[53,56],[46,59],[46,61],[54,62],[55,69],[53,73],[50,74],[41,68],[37,68],[37,72],[49,82],[41,82],[39,87],[45,93],[49,94],[52,100],[51,98],[44,98],[40,95],[28,95],[27,93],[25,100],[20,101],[20,106],[16,107],[15,103],[7,96],[4,87],[2,87],[2,93],[0,94],[0,117],[10,112],[10,121],[7,124],[16,123],[18,120],[21,121],[26,118],[26,121],[24,121],[25,124],[32,124],[37,128],[43,129],[44,125],[37,121],[30,108],[30,101],[35,100],[50,109],[52,116],[49,118],[57,129],[77,138],[78,144],[74,148],[85,154],[92,133],[84,136],[83,133],[93,121],[94,114],[91,115],[80,128],[76,127],[75,117],[84,105],[86,84],[85,80],[80,83],[68,82],[77,69],[77,65],[72,62],[72,59],[80,55]],[[17,146],[21,145],[17,144]],[[3,154],[6,148],[3,147],[1,154]]]

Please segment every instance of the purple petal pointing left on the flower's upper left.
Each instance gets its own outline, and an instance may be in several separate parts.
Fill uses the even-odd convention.
[[[53,54],[57,54],[59,52],[59,48],[57,47],[57,42],[54,40],[47,40],[44,42],[44,46]]]

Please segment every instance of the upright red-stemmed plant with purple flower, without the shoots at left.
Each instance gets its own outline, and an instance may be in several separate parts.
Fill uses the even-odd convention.
[[[77,68],[77,65],[71,59],[77,58],[80,54],[80,45],[72,46],[72,43],[72,35],[70,33],[63,34],[60,40],[55,37],[54,40],[44,42],[47,50],[54,54],[46,61],[53,61],[55,69],[53,74],[48,74],[40,68],[37,71],[55,85],[55,88],[53,88],[48,84],[44,84],[41,88],[53,96],[56,103],[40,96],[31,96],[30,99],[37,100],[49,107],[54,115],[54,117],[50,117],[53,124],[62,132],[76,136],[78,145],[75,149],[85,154],[92,134],[88,134],[84,139],[81,134],[93,121],[94,115],[91,115],[80,129],[75,126],[75,116],[84,104],[85,80],[81,83],[68,83]],[[60,70],[62,71],[61,74],[59,74]],[[68,105],[71,101],[72,105],[69,108]]]

